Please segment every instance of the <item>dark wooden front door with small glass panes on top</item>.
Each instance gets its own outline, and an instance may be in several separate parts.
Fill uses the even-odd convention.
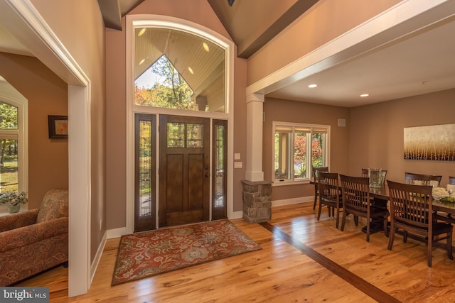
[[[160,116],[159,226],[208,221],[210,119]]]

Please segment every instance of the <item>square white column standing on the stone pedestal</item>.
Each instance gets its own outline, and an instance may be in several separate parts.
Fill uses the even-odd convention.
[[[247,181],[264,181],[262,171],[262,112],[264,95],[247,96]]]

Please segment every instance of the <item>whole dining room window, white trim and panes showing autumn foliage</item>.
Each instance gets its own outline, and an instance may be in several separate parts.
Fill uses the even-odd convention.
[[[312,166],[328,166],[330,126],[274,122],[273,133],[275,183],[311,180]]]

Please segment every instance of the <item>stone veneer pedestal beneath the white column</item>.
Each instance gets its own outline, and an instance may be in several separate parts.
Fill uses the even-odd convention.
[[[243,219],[248,223],[266,222],[272,218],[272,182],[242,180]]]

